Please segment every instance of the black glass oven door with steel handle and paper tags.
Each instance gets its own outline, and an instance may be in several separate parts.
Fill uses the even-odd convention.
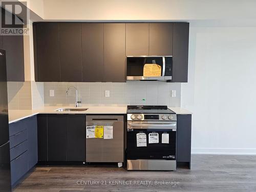
[[[176,160],[176,129],[176,121],[127,121],[127,160]],[[139,133],[146,135],[146,146],[138,146]],[[158,143],[149,142],[152,133]]]

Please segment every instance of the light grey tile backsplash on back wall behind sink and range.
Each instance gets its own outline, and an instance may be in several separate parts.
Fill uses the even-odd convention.
[[[82,106],[122,106],[122,105],[168,105],[180,106],[181,83],[163,81],[128,81],[116,82],[45,82],[45,106],[74,106],[75,91],[82,99]],[[50,90],[55,96],[50,97]],[[105,97],[105,90],[110,91],[110,97]],[[170,91],[176,90],[176,97],[170,97]]]

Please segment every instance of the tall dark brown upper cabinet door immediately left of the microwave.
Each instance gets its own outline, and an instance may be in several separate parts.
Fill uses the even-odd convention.
[[[104,78],[125,82],[125,24],[104,24]]]

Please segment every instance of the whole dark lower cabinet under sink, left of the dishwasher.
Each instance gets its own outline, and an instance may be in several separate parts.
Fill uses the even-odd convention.
[[[38,115],[38,162],[86,161],[86,116]]]

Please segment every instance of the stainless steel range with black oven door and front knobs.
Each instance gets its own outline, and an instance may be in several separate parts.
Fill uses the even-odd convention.
[[[127,170],[176,170],[176,130],[167,106],[127,106]]]

